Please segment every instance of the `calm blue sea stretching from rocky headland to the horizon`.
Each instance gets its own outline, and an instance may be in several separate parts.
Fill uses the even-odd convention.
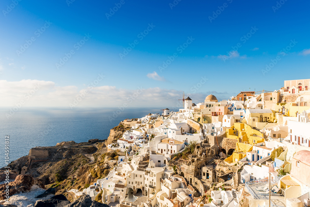
[[[20,109],[7,119],[7,109],[0,109],[0,167],[4,162],[4,137],[10,135],[10,161],[28,155],[35,146],[55,146],[58,142],[87,142],[89,139],[107,139],[110,129],[128,118],[141,118],[159,113],[154,108],[127,108],[116,118],[115,108]],[[118,111],[119,113],[120,111]],[[112,117],[112,119],[111,119]]]

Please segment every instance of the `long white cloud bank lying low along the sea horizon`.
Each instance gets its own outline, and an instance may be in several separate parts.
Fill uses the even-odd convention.
[[[35,91],[34,87],[40,88]],[[76,86],[57,86],[52,81],[41,80],[0,80],[0,107],[9,109],[24,101],[23,107],[68,107],[79,94],[86,91],[85,88]],[[182,101],[182,91],[162,88],[135,89],[116,88],[115,86],[98,86],[89,89],[86,95],[78,103],[77,107],[121,107],[125,103],[128,107],[170,107],[181,108],[178,103]],[[204,101],[211,92],[193,93],[190,97],[195,103]],[[219,100],[229,97],[227,93],[212,91]],[[31,96],[30,96],[31,95]]]

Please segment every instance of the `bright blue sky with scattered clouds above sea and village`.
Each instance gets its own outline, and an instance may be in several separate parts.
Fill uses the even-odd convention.
[[[25,106],[68,106],[98,74],[105,78],[79,106],[120,106],[138,87],[145,91],[136,104],[171,106],[183,91],[199,102],[210,92],[224,99],[309,78],[308,1],[71,1],[1,1],[0,85],[14,90],[0,91],[0,106],[14,106],[38,81],[44,87]],[[199,85],[201,77],[208,80]]]

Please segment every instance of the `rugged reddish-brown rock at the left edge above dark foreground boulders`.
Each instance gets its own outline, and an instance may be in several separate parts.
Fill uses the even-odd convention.
[[[0,185],[0,200],[6,199],[5,190],[7,189],[6,186],[9,186],[9,195],[12,196],[19,192],[27,192],[30,191],[31,186],[34,184],[34,179],[30,175],[18,175],[15,178],[15,181],[10,182],[8,184]]]

